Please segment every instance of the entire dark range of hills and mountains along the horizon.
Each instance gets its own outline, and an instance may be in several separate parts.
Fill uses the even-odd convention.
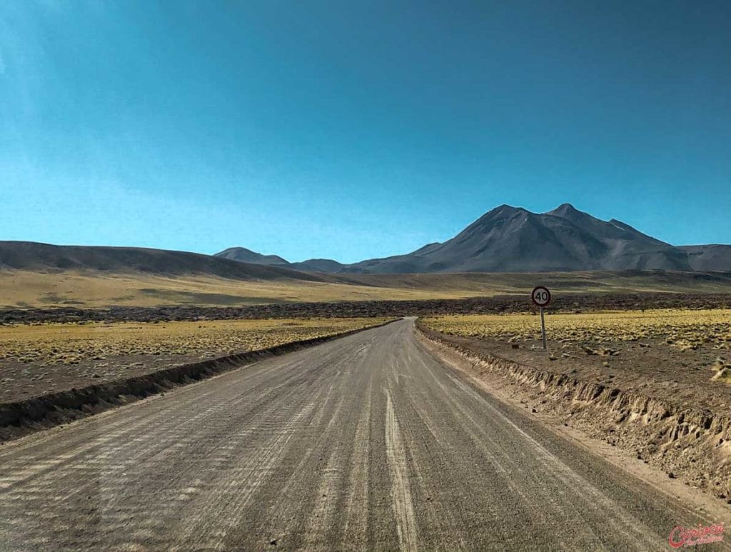
[[[624,222],[602,221],[564,203],[548,213],[501,205],[444,243],[429,243],[408,254],[350,265],[329,259],[288,262],[278,255],[243,247],[212,256],[138,247],[0,241],[2,268],[352,284],[359,275],[378,274],[731,271],[731,246],[673,246]]]

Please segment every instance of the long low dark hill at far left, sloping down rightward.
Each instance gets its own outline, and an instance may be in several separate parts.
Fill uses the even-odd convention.
[[[115,273],[207,274],[228,279],[329,281],[290,268],[239,262],[211,255],[141,247],[54,246],[0,241],[0,269],[23,271],[91,270]]]

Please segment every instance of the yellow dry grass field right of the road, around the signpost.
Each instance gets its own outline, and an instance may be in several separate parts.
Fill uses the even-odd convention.
[[[439,332],[515,347],[537,347],[540,339],[537,314],[454,315],[428,318],[423,323]],[[635,357],[642,349],[667,349],[668,353],[686,353],[668,358],[675,366],[705,369],[711,379],[731,383],[731,310],[547,314],[546,326],[553,349],[550,360],[570,362],[572,358],[596,356],[610,367],[618,358]],[[637,368],[640,363],[636,363]]]

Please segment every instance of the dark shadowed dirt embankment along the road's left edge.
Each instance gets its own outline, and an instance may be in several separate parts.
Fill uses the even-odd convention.
[[[106,409],[137,401],[173,387],[216,376],[244,364],[263,358],[283,355],[305,347],[332,341],[370,328],[379,328],[393,320],[367,328],[350,330],[314,339],[268,347],[256,351],[226,355],[197,363],[187,363],[149,374],[115,379],[98,385],[72,388],[21,401],[0,403],[0,443],[29,434],[32,431],[59,426],[80,417],[97,414]]]

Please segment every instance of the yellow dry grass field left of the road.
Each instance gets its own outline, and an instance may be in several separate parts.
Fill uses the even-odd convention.
[[[385,318],[0,326],[0,402],[357,330]]]

